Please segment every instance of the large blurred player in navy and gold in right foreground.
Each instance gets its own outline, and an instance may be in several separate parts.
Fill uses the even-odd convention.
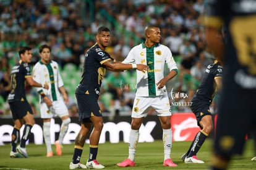
[[[245,135],[255,130],[255,20],[255,1],[207,1],[205,38],[224,68],[211,169],[228,169],[233,156],[242,154]],[[224,44],[216,36],[223,26]]]

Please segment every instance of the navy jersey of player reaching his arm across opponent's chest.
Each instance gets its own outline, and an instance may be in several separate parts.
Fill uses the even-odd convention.
[[[89,91],[100,93],[101,80],[106,73],[106,67],[103,63],[111,60],[106,51],[103,51],[97,44],[88,49],[85,54],[85,62],[83,64],[82,79],[75,93],[85,94]]]

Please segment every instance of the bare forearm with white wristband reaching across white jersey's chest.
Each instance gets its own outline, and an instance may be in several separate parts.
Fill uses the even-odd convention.
[[[144,64],[124,64],[122,62],[114,62],[112,60],[104,62],[103,65],[106,67],[106,69],[114,72],[120,72],[129,69],[137,69],[143,72],[148,70],[148,66]]]

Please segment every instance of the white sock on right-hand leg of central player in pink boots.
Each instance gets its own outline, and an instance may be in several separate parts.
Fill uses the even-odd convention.
[[[163,129],[164,160],[171,156],[171,145],[173,143],[173,130]]]

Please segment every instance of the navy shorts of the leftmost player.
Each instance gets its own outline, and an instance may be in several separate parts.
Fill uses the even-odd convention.
[[[32,108],[28,101],[15,101],[9,103],[12,112],[12,119],[22,119],[26,114],[33,114]]]

